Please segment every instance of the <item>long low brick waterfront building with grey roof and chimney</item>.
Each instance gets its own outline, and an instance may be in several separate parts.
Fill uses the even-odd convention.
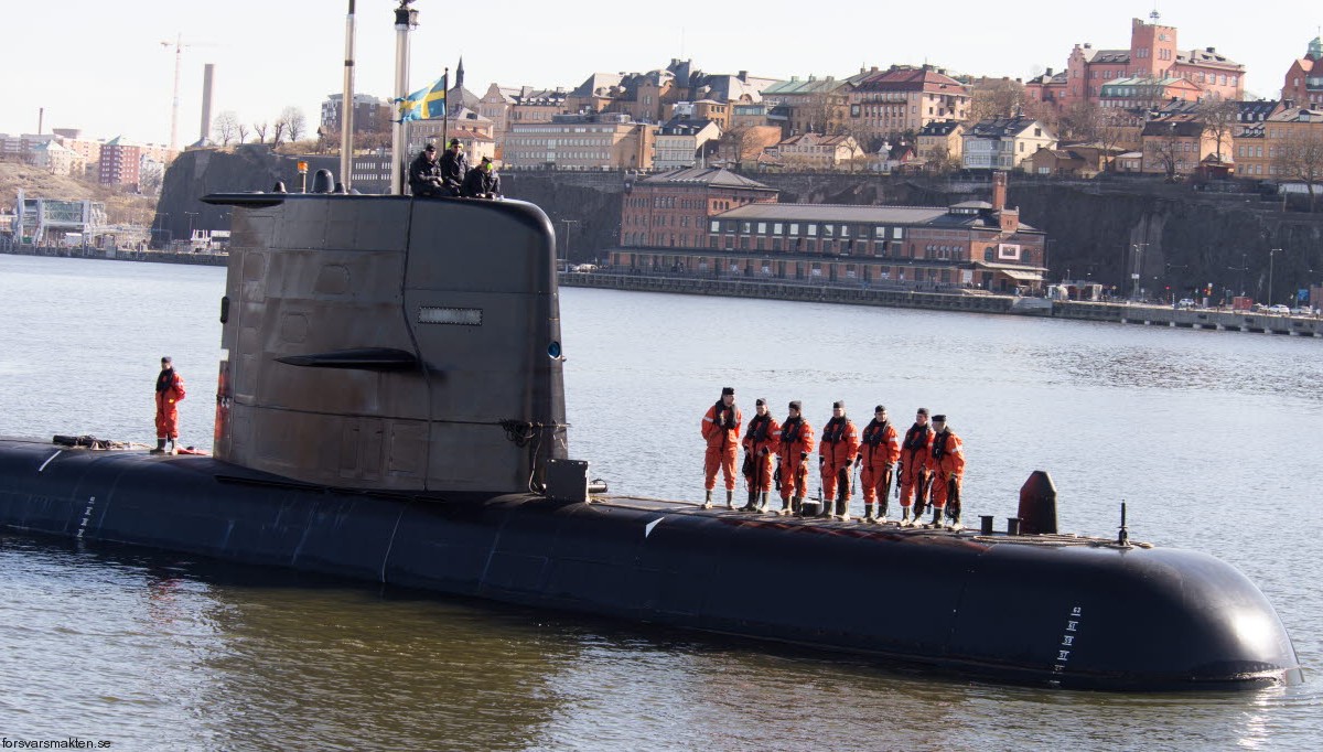
[[[654,244],[647,240],[656,236],[651,233],[607,257],[614,269],[640,274],[925,290],[1037,289],[1046,271],[1046,238],[1020,224],[1017,209],[1005,208],[1005,175],[998,172],[992,203],[941,208],[757,201],[712,213],[706,248]],[[673,200],[683,201],[684,193]]]

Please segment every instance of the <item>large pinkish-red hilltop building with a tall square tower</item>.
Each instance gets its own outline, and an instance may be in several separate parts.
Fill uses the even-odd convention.
[[[1245,95],[1245,66],[1216,48],[1177,48],[1176,26],[1131,19],[1127,49],[1098,49],[1077,44],[1066,61],[1065,75],[1044,75],[1028,86],[1029,98],[1058,109],[1077,102],[1097,102],[1102,87],[1123,78],[1184,78],[1199,86],[1203,95],[1241,99]]]

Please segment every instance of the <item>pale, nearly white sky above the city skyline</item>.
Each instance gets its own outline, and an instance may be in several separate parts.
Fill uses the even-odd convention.
[[[394,82],[396,0],[357,0],[357,93]],[[1181,49],[1216,46],[1248,69],[1248,93],[1277,98],[1291,61],[1319,33],[1304,0],[1166,0],[1162,23]],[[901,8],[925,8],[921,15]],[[417,0],[410,86],[464,58],[464,85],[574,87],[594,71],[646,71],[688,57],[708,73],[845,77],[860,66],[931,62],[954,71],[1028,78],[1065,68],[1076,42],[1127,48],[1130,19],[1152,0],[884,0],[732,3],[663,0]],[[347,0],[4,0],[0,4],[0,132],[78,127],[168,143],[173,41],[180,69],[179,140],[198,138],[202,65],[216,64],[213,114],[274,120],[290,105],[314,124],[341,91]],[[169,41],[171,46],[161,46]],[[454,81],[454,78],[451,78]]]

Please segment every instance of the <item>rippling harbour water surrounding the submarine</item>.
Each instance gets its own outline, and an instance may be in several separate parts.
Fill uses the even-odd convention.
[[[161,355],[210,446],[224,270],[0,256],[0,434],[152,440]],[[967,514],[1053,474],[1062,527],[1213,553],[1275,604],[1290,690],[1109,695],[0,535],[0,736],[119,749],[1312,749],[1323,343],[763,301],[562,291],[572,455],[699,499],[699,420],[950,416]],[[857,503],[857,502],[856,502]],[[857,511],[857,510],[856,510]],[[877,573],[904,618],[905,584]],[[1310,741],[1314,739],[1315,741]]]

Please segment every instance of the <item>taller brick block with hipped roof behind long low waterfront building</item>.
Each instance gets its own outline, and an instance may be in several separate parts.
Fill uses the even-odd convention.
[[[708,217],[777,201],[777,189],[716,167],[672,169],[626,184],[620,245],[703,248]]]

